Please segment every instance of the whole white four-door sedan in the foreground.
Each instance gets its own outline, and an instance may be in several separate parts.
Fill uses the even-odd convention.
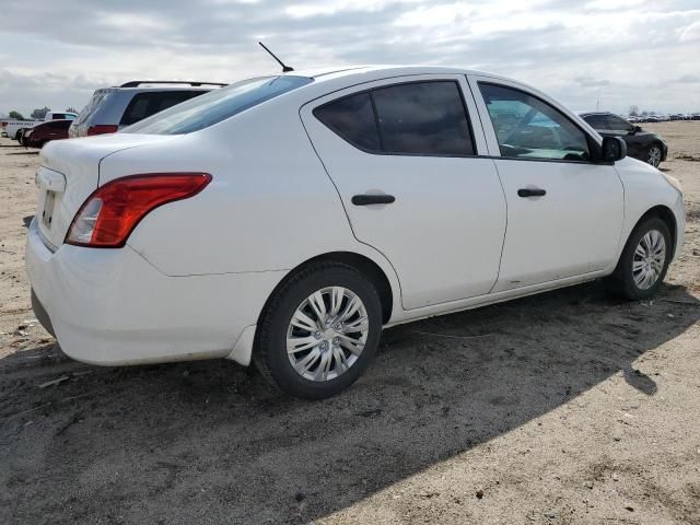
[[[67,354],[253,360],[305,398],[352,384],[383,326],[598,278],[648,299],[685,228],[622,139],[454,68],[244,80],[40,166],[26,266]]]

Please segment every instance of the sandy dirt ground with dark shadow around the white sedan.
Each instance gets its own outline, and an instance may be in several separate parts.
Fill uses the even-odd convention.
[[[700,122],[648,127],[688,212],[654,301],[593,282],[390,329],[322,402],[67,358],[24,271],[38,159],[2,139],[0,523],[700,524]]]

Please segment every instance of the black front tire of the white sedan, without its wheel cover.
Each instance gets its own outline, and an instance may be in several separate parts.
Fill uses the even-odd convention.
[[[640,288],[634,281],[632,271],[634,250],[637,249],[640,241],[646,233],[657,231],[664,237],[665,243],[665,257],[664,265],[661,273],[649,288]],[[673,238],[668,225],[658,217],[649,217],[641,221],[630,234],[625,249],[620,255],[620,260],[617,264],[615,272],[608,278],[608,285],[611,292],[630,301],[640,301],[649,299],[656,293],[661,287],[666,271],[668,270],[668,264],[673,255]]]

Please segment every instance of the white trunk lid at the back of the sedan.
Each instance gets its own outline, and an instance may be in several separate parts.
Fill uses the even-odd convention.
[[[51,141],[44,147],[35,182],[38,187],[36,221],[46,245],[56,250],[63,243],[75,213],[100,186],[100,163],[103,159],[118,151],[175,138],[116,133]]]

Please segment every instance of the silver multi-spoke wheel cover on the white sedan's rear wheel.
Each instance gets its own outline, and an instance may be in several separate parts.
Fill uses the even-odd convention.
[[[351,290],[317,290],[292,315],[287,330],[289,361],[306,380],[335,380],[362,354],[369,326],[366,308]]]

